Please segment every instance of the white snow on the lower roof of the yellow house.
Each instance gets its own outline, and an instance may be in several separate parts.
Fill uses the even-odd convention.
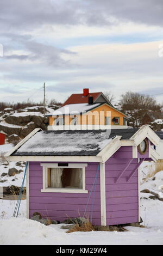
[[[49,114],[47,114],[47,116],[49,115],[63,115],[63,114],[80,114],[82,112],[87,112],[95,107],[98,107],[99,105],[101,105],[101,103],[95,103],[92,105],[89,105],[87,103],[79,103],[79,104],[69,104],[69,105],[65,105],[64,107],[61,107]]]

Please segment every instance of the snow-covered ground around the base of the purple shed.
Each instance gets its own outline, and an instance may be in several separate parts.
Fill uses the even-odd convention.
[[[150,167],[151,166],[151,167]],[[147,178],[154,170],[153,163],[140,168],[140,190],[163,185],[163,171]],[[18,174],[20,175],[20,174]],[[153,179],[153,180],[152,180]],[[145,182],[143,182],[145,181]],[[16,200],[0,199],[0,244],[2,245],[163,245],[163,202],[141,193],[140,209],[145,228],[126,227],[128,231],[91,231],[67,234],[61,225],[45,226],[26,219],[26,200],[22,200],[18,218],[12,218]],[[146,198],[146,199],[145,199]],[[13,235],[14,234],[14,235]]]

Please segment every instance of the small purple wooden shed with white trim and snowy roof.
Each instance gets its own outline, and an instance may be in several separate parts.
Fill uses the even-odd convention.
[[[139,166],[156,161],[149,126],[111,131],[35,129],[6,156],[27,161],[27,217],[88,216],[92,224],[140,222]]]

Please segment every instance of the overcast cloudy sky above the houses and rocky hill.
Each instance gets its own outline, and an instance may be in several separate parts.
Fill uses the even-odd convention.
[[[162,102],[162,13],[162,0],[0,0],[0,101],[39,102],[45,82],[48,100],[90,88]]]

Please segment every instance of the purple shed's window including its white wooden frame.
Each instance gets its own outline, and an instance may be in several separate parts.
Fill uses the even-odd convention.
[[[87,193],[85,190],[85,167],[87,164],[61,163],[43,166],[43,189],[41,192]]]

